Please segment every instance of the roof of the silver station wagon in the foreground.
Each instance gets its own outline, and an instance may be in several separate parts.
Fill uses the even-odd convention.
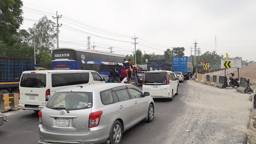
[[[58,90],[58,92],[70,92],[70,91],[92,92],[97,89],[109,89],[109,88],[115,88],[118,86],[126,86],[126,85],[132,86],[131,84],[121,84],[121,83],[81,84],[79,86]]]

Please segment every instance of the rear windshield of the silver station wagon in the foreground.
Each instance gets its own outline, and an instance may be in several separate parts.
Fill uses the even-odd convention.
[[[46,108],[78,110],[92,108],[92,92],[55,92]]]

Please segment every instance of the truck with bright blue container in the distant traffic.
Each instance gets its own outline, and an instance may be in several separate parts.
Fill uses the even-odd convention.
[[[184,77],[189,80],[192,78],[193,73],[192,59],[188,56],[175,56],[172,58],[172,71],[182,72]]]

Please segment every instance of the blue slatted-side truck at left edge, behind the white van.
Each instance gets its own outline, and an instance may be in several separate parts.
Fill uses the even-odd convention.
[[[17,92],[23,71],[35,70],[33,59],[0,57],[0,94]]]

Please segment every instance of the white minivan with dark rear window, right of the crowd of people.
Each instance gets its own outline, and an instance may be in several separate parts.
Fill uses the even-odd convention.
[[[172,71],[157,70],[145,72],[142,91],[149,92],[153,98],[168,98],[173,100],[178,94],[178,78]]]

